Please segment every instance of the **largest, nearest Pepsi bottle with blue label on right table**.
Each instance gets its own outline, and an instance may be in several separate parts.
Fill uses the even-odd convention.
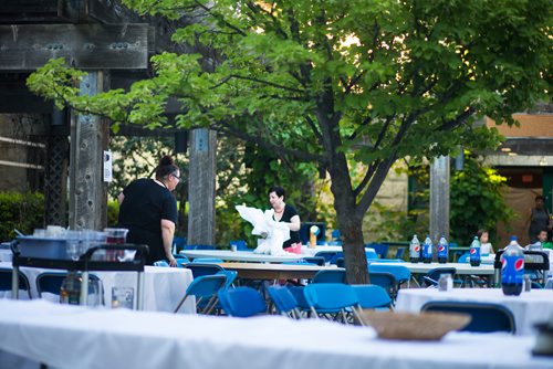
[[[519,296],[522,292],[524,277],[524,253],[517,236],[511,236],[511,242],[501,255],[501,288],[505,295]]]

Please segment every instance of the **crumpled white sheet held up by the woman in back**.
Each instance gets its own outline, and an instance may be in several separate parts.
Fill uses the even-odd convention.
[[[251,234],[261,235],[264,239],[259,242],[258,247],[253,250],[258,254],[286,255],[282,250],[282,244],[290,240],[290,229],[286,224],[276,222],[273,219],[273,209],[265,212],[255,208],[237,205],[236,209],[244,220],[253,225]]]

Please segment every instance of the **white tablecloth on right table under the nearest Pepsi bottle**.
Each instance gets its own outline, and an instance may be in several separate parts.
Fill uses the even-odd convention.
[[[501,288],[453,288],[447,292],[437,288],[399,289],[396,309],[417,313],[429,301],[503,305],[514,315],[518,335],[533,334],[534,324],[546,321],[553,315],[553,291],[551,289],[532,289],[520,296],[505,296]]]

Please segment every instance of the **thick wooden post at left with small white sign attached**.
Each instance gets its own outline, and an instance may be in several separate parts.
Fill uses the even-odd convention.
[[[81,94],[95,95],[104,84],[104,72],[88,72],[81,82]],[[106,225],[103,150],[107,147],[107,133],[106,120],[71,112],[69,224],[74,230],[100,230]]]

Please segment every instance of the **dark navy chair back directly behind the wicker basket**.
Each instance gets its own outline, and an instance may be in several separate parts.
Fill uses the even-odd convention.
[[[472,319],[461,329],[465,331],[514,334],[517,330],[512,312],[498,304],[436,301],[426,303],[420,310],[469,314]]]

